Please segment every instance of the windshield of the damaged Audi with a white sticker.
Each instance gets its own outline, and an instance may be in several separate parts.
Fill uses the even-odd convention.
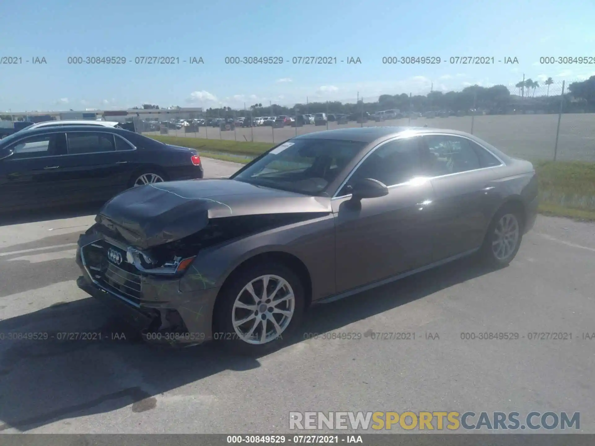
[[[233,180],[307,195],[327,188],[366,143],[334,139],[292,139],[275,147]]]

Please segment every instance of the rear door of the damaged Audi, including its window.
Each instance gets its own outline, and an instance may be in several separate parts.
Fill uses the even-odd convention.
[[[434,261],[477,249],[483,242],[494,206],[499,202],[503,165],[483,147],[462,136],[423,137],[430,152],[428,173],[436,192],[437,226]]]

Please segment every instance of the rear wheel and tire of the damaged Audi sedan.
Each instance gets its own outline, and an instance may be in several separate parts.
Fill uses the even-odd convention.
[[[523,227],[522,213],[517,206],[500,208],[491,219],[480,249],[484,263],[492,268],[503,268],[511,263],[521,247]]]

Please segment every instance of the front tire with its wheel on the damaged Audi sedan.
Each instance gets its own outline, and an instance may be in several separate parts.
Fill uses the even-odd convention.
[[[268,279],[268,293],[280,285],[280,290],[275,293],[276,306],[271,306],[270,299],[262,300],[262,289],[265,276]],[[279,280],[280,279],[280,280]],[[261,302],[256,303],[246,289],[252,284],[252,289]],[[284,300],[289,293],[293,300]],[[282,294],[279,294],[282,293]],[[281,296],[281,297],[278,297]],[[240,306],[238,306],[240,304]],[[242,304],[253,305],[246,309]],[[264,304],[264,306],[263,306]],[[268,306],[267,306],[268,304]],[[271,313],[271,307],[287,313]],[[266,310],[265,310],[266,308]],[[299,276],[288,266],[278,262],[262,262],[249,265],[235,272],[223,285],[215,305],[213,339],[216,343],[230,353],[246,356],[260,356],[283,347],[293,332],[300,326],[305,308],[305,295],[302,281]],[[287,315],[291,313],[289,319]],[[251,319],[250,316],[252,316]],[[264,318],[264,319],[263,319]],[[274,318],[276,325],[270,318]],[[238,322],[246,321],[237,327]],[[262,341],[263,322],[266,327],[264,342]],[[234,324],[235,322],[235,324]],[[281,329],[280,334],[276,334]],[[253,331],[250,342],[245,338]],[[267,335],[267,334],[270,334]],[[275,335],[276,334],[276,335]]]

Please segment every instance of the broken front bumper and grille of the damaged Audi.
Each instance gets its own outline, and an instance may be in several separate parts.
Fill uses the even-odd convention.
[[[101,235],[81,235],[79,288],[112,307],[148,342],[201,344],[212,339],[217,288],[181,291],[180,278],[142,274],[126,262],[124,252],[114,255],[120,250]]]

